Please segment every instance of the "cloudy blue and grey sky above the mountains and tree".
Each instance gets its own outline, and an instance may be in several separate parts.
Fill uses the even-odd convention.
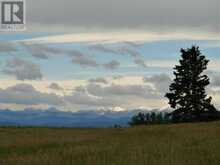
[[[180,49],[210,60],[220,109],[219,0],[28,0],[26,30],[0,32],[0,109],[163,109]]]

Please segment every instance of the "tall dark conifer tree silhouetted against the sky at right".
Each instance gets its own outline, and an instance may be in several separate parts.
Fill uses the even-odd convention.
[[[174,67],[174,82],[165,96],[175,110],[171,113],[174,122],[207,121],[219,118],[219,112],[211,103],[205,87],[209,78],[203,74],[209,60],[199,47],[181,49],[180,65]]]

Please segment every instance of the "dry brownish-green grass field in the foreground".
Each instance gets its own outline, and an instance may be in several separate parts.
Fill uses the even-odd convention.
[[[220,122],[0,128],[0,165],[219,165]]]

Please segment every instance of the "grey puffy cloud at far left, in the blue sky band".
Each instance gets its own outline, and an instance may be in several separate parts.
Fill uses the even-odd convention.
[[[38,65],[20,58],[8,60],[3,73],[15,76],[18,80],[38,80],[43,77]]]

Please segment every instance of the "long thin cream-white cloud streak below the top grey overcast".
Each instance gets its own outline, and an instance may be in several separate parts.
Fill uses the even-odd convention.
[[[93,33],[72,33],[50,35],[46,37],[36,37],[26,39],[26,44],[48,44],[48,43],[121,43],[121,42],[152,42],[159,40],[177,40],[177,39],[194,39],[194,40],[211,40],[219,39],[218,35],[193,34],[191,32],[173,32],[173,33],[154,33],[147,31],[124,31],[124,32],[93,32]]]

